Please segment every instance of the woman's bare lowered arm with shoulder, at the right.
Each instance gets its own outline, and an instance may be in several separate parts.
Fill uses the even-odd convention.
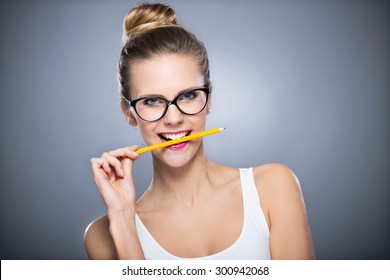
[[[272,259],[314,259],[306,208],[295,174],[282,164],[257,169],[255,180],[270,227]]]

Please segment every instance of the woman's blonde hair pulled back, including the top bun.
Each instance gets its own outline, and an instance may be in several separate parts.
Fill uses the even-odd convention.
[[[163,53],[192,56],[201,69],[204,86],[211,90],[206,48],[176,22],[176,13],[170,6],[144,3],[130,10],[123,20],[123,41],[118,80],[120,93],[127,99],[131,100],[132,63]]]

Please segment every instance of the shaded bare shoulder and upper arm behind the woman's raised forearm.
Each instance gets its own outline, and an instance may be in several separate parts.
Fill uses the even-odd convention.
[[[107,215],[97,218],[87,226],[84,233],[84,247],[89,259],[117,259]]]

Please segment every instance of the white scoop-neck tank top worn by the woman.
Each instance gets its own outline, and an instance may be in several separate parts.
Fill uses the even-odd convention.
[[[244,224],[238,239],[227,249],[213,255],[191,258],[197,260],[261,260],[271,259],[269,228],[260,206],[252,168],[240,169],[244,205]],[[148,260],[178,260],[157,243],[138,215],[135,215],[138,237]]]

